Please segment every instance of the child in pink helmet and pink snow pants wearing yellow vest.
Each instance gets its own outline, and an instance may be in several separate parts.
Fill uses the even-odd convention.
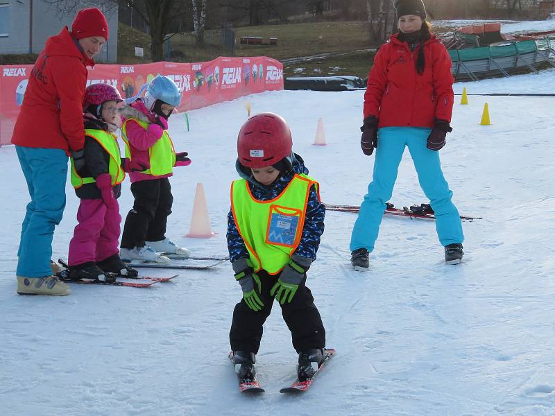
[[[105,274],[136,277],[137,270],[119,258],[119,205],[117,198],[124,171],[141,169],[129,159],[121,159],[117,130],[117,110],[121,96],[107,84],[85,89],[85,147],[71,157],[71,184],[80,198],[78,225],[69,243],[69,278],[113,281]]]

